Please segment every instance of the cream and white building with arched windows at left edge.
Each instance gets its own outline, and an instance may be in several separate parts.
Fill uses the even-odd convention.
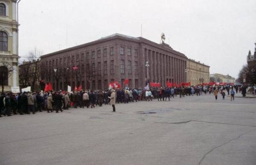
[[[19,86],[16,4],[17,0],[0,0],[0,79],[4,91]]]

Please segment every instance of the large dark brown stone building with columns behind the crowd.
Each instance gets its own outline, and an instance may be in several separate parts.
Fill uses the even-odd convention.
[[[111,81],[124,87],[145,87],[148,79],[166,86],[186,82],[187,57],[165,43],[157,44],[143,37],[113,34],[93,42],[41,56],[42,78],[55,90],[70,85],[83,89],[107,89]],[[73,69],[73,67],[76,67]]]

